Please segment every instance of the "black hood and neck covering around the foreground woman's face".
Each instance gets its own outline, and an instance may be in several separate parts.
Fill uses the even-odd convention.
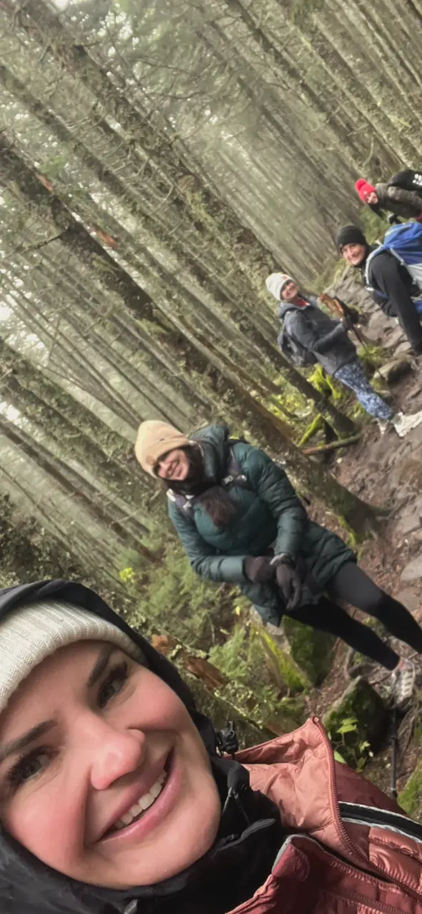
[[[0,623],[7,612],[46,600],[63,600],[92,612],[116,625],[142,648],[150,669],[181,698],[204,740],[223,812],[216,844],[206,856],[172,879],[125,891],[88,886],[62,876],[0,828],[2,914],[223,914],[236,907],[268,875],[280,846],[276,806],[251,790],[243,766],[219,758],[211,721],[196,710],[193,696],[174,665],[93,590],[65,580],[0,590]]]

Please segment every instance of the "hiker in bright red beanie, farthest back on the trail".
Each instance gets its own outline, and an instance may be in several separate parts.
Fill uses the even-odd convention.
[[[421,178],[420,184],[415,183],[417,176]],[[422,219],[422,175],[418,172],[406,169],[393,175],[387,184],[375,186],[360,177],[354,189],[376,216],[383,218],[386,209],[396,217]],[[398,219],[390,217],[388,221],[397,222]]]

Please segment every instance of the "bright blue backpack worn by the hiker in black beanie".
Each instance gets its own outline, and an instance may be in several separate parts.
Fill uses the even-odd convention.
[[[397,260],[406,267],[412,277],[412,298],[417,313],[422,314],[422,224],[420,222],[404,222],[392,226],[385,232],[384,242],[372,251],[366,260],[364,269],[364,282],[368,292],[376,292],[380,298],[387,298],[384,292],[374,289],[369,279],[370,266],[377,254],[389,251]]]

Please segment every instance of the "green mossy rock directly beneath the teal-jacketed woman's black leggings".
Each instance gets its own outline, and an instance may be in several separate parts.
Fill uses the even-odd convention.
[[[302,625],[287,615],[283,617],[282,626],[290,643],[293,660],[312,685],[321,685],[331,669],[335,639],[332,635]]]

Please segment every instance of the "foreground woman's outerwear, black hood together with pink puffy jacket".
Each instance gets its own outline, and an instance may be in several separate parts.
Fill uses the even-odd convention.
[[[86,886],[0,834],[2,914],[422,914],[422,826],[334,761],[318,717],[237,760],[216,755],[210,721],[180,676],[92,590],[62,580],[0,591],[0,619],[34,600],[65,600],[126,632],[184,701],[222,802],[216,843],[178,876],[126,891]]]

